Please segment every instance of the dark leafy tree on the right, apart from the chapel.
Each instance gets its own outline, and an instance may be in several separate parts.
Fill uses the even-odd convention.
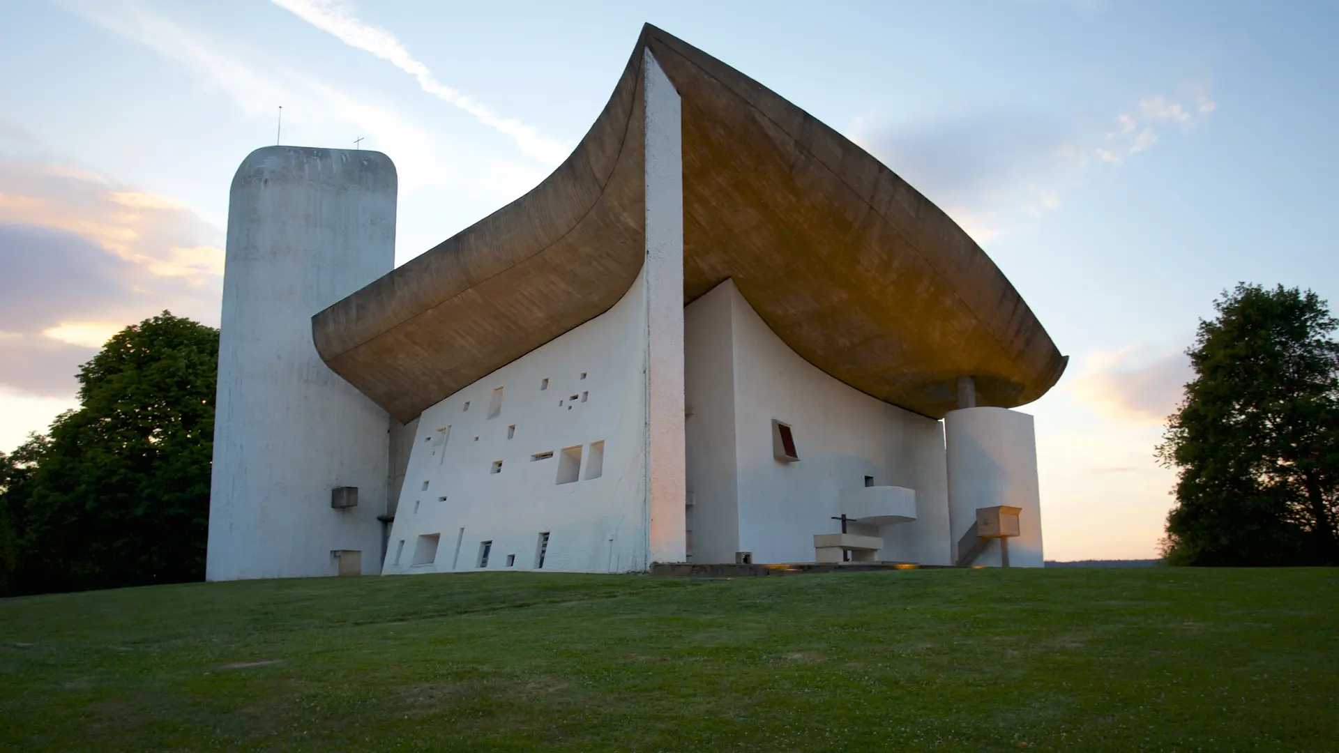
[[[1339,563],[1339,320],[1297,288],[1239,284],[1186,355],[1160,460],[1178,469],[1170,564]]]

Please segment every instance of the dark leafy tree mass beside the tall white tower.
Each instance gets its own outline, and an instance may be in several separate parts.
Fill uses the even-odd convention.
[[[80,407],[0,462],[9,592],[204,577],[217,364],[218,331],[165,311],[80,367]]]

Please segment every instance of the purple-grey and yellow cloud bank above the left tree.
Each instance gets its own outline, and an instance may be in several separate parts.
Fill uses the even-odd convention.
[[[0,387],[68,398],[126,324],[165,308],[216,323],[220,240],[169,197],[0,153]]]

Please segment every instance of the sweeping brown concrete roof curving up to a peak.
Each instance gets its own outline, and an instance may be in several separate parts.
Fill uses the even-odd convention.
[[[645,256],[641,60],[683,99],[684,300],[727,277],[806,360],[939,418],[1042,397],[1066,356],[947,214],[815,118],[643,28],[613,96],[533,190],[312,318],[327,364],[400,421],[608,311]]]

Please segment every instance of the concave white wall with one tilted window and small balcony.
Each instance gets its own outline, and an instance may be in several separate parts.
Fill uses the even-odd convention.
[[[949,564],[940,422],[806,362],[731,280],[690,304],[686,323],[694,561],[734,561],[736,551],[755,563],[813,561],[813,536],[841,529],[830,520],[842,512],[841,489],[873,476],[876,485],[915,489],[917,520],[850,531],[881,535],[878,559]],[[798,462],[773,457],[774,418],[791,425]]]

